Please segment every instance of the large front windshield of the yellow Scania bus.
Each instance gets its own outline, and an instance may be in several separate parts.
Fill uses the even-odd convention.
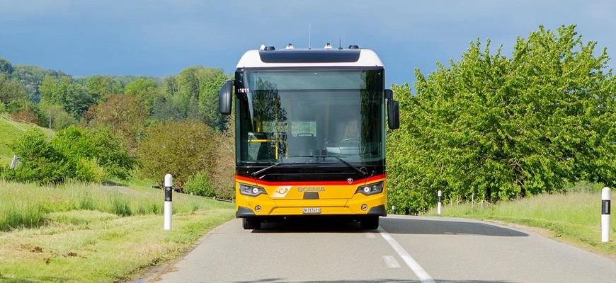
[[[331,68],[238,71],[238,164],[382,163],[383,73]]]

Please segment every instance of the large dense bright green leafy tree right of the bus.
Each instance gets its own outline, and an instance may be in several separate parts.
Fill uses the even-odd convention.
[[[397,207],[421,211],[435,192],[508,200],[566,183],[616,181],[614,93],[605,50],[575,26],[518,38],[513,58],[472,42],[459,62],[427,78],[416,96],[396,86],[401,130],[389,133],[389,185]],[[395,145],[392,144],[395,142]]]

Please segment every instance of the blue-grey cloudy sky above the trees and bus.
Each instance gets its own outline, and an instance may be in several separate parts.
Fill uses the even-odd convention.
[[[576,24],[616,56],[616,1],[516,0],[0,0],[0,58],[74,77],[171,76],[203,65],[232,74],[247,50],[359,45],[375,50],[386,84],[413,83],[470,42],[511,57],[516,37]],[[610,67],[614,65],[610,60]]]

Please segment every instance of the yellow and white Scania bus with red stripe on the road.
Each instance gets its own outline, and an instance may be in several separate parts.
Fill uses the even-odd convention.
[[[399,103],[370,49],[246,52],[219,91],[235,117],[235,209],[244,229],[295,216],[346,217],[378,229],[387,216],[385,124]],[[234,105],[234,111],[232,111]]]

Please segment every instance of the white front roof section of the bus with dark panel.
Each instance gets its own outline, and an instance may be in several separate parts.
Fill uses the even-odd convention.
[[[249,50],[239,59],[237,69],[284,67],[383,67],[370,49],[283,49]]]

